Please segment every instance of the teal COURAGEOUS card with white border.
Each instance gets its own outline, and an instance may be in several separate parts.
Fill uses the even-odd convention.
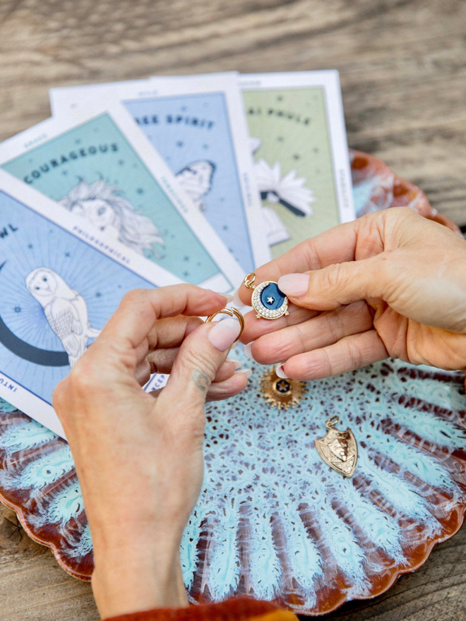
[[[0,165],[180,279],[229,291],[243,271],[121,104],[48,119]]]

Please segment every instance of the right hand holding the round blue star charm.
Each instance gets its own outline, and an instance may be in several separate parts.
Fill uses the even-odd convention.
[[[407,207],[376,212],[300,243],[256,270],[292,306],[270,321],[246,315],[242,341],[263,364],[300,380],[387,356],[466,366],[466,243]],[[241,285],[241,301],[251,291]],[[247,353],[248,350],[246,350]]]

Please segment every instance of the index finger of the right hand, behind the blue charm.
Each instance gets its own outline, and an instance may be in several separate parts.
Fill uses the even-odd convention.
[[[321,270],[332,263],[354,260],[359,221],[339,224],[316,237],[301,241],[281,257],[265,263],[255,271],[256,284],[265,280],[278,282],[285,274]],[[245,284],[239,287],[238,295],[243,304],[251,306],[252,290]]]

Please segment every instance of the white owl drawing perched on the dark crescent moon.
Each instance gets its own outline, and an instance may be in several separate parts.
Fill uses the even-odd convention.
[[[100,330],[89,325],[83,296],[47,267],[32,270],[26,277],[26,287],[44,309],[49,326],[61,340],[73,368],[86,351],[88,339],[100,334]]]

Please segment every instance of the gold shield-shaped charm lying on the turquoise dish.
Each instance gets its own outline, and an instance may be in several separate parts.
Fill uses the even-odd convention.
[[[328,428],[325,438],[315,441],[318,454],[325,464],[340,472],[343,476],[353,476],[357,462],[357,442],[349,428],[346,431],[335,429],[340,420],[338,416],[331,416],[325,423]]]

